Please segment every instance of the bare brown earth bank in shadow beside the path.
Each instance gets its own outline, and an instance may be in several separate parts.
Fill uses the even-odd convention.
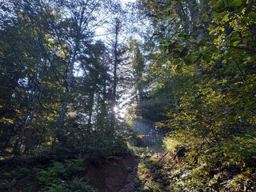
[[[86,182],[99,192],[134,192],[138,161],[130,154],[86,163]]]

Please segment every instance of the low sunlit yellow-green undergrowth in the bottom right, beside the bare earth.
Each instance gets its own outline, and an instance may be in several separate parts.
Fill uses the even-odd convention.
[[[150,191],[256,191],[254,133],[195,146],[178,154],[182,142],[166,138],[165,152],[144,156],[138,164],[137,189]],[[183,142],[184,145],[184,142]]]

